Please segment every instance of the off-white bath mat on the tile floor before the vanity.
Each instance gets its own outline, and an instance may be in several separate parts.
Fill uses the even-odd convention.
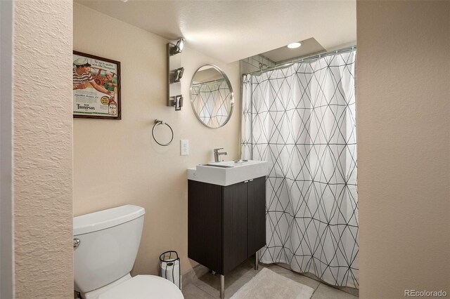
[[[264,268],[230,299],[309,299],[314,289]]]

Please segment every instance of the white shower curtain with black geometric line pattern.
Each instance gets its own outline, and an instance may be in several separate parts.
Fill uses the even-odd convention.
[[[245,75],[242,159],[270,165],[262,263],[359,288],[355,55]]]

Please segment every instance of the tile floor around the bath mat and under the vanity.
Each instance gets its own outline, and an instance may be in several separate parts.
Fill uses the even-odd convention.
[[[322,284],[319,281],[310,279],[302,274],[292,272],[290,270],[284,269],[275,264],[259,264],[259,271],[263,267],[269,268],[270,270],[293,279],[294,281],[300,282],[314,288],[314,293],[311,299],[356,299],[354,295],[345,293],[344,291],[338,290],[338,288],[333,288],[326,284]],[[225,275],[225,298],[230,298],[238,289],[246,284],[250,279],[255,277],[257,271],[253,269],[252,260],[249,259],[243,264],[236,267],[235,270],[231,271],[228,275]],[[191,284],[184,286],[183,295],[185,299],[210,299],[219,298],[220,290],[220,276],[213,275],[212,273],[207,273],[193,281]],[[269,299],[269,298],[268,298]]]

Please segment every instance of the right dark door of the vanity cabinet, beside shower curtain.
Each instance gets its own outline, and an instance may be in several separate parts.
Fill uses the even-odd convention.
[[[247,185],[247,257],[266,245],[266,178],[255,178]]]

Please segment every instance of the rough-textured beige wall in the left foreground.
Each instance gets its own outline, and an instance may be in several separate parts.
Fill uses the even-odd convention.
[[[70,298],[72,4],[15,1],[15,298]]]

